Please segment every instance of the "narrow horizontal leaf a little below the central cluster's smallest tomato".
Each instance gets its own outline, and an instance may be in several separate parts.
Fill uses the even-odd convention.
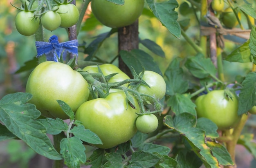
[[[167,146],[157,145],[157,144],[151,144],[146,143],[139,146],[139,150],[149,152],[149,153],[159,153],[160,155],[168,155],[171,151],[170,148]]]

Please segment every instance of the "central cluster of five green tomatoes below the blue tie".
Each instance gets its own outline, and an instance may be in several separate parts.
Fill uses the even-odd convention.
[[[109,79],[110,83],[130,79],[115,65],[103,64],[99,68],[104,76],[117,73]],[[99,74],[98,66],[87,66],[83,73]],[[135,88],[135,92],[148,93],[157,100],[162,99],[166,92],[163,77],[153,71],[145,71],[144,75],[142,80],[150,87],[140,85]],[[121,88],[123,87],[127,88],[128,85],[122,85]],[[115,89],[103,98],[88,100],[91,94],[89,88],[90,84],[81,73],[67,64],[46,61],[36,66],[30,74],[26,92],[33,95],[30,103],[35,104],[45,117],[68,119],[56,100],[66,102],[75,112],[75,119],[100,137],[102,145],[92,144],[98,148],[112,148],[124,143],[137,130],[152,133],[157,129],[157,117],[152,113],[141,114],[138,100],[132,93],[128,93],[134,102],[130,105],[123,89]]]

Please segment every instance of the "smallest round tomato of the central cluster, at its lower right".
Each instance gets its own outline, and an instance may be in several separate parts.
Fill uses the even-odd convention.
[[[141,133],[153,133],[158,126],[158,119],[154,114],[141,115],[136,120],[136,127]]]

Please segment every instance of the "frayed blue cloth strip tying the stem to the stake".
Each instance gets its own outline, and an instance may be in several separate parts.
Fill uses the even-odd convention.
[[[63,60],[66,59],[67,53],[78,55],[78,41],[71,40],[67,42],[58,42],[58,37],[53,35],[49,38],[49,42],[37,42],[36,41],[37,56],[46,55],[47,61],[58,62],[58,58],[61,57],[63,52]],[[57,58],[58,56],[58,58]]]

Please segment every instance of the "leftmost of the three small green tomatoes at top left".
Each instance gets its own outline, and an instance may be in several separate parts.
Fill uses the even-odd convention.
[[[34,18],[34,13],[21,11],[16,15],[15,26],[22,35],[30,36],[39,28],[39,20]]]

